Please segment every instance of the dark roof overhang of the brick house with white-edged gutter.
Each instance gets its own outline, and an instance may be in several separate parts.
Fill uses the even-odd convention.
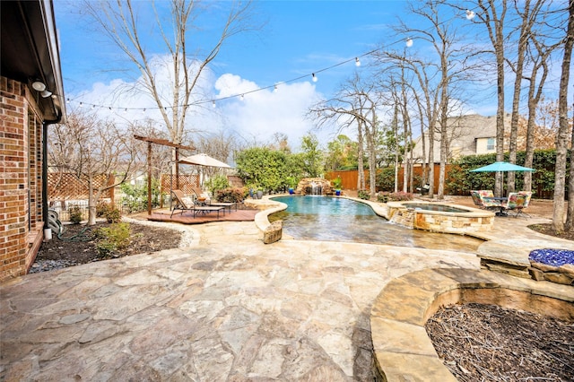
[[[0,7],[0,73],[30,89],[31,82],[44,82],[52,96],[32,94],[44,120],[60,121],[65,117],[64,84],[52,1],[0,1]]]

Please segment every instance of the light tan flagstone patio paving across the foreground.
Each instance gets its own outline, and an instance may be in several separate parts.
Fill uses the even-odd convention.
[[[387,283],[479,269],[473,253],[262,239],[254,222],[209,223],[187,227],[188,247],[5,282],[0,380],[370,380]]]

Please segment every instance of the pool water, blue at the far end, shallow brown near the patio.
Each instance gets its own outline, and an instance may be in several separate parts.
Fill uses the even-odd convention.
[[[350,241],[399,247],[474,251],[483,240],[455,234],[411,230],[378,216],[368,204],[331,196],[278,196],[286,210],[269,215],[282,220],[294,239]]]

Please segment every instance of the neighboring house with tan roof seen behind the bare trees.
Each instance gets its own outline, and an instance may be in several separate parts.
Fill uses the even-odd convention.
[[[448,157],[458,155],[474,155],[477,152],[477,140],[496,138],[496,117],[483,117],[478,114],[471,114],[459,117],[448,118]],[[505,130],[509,130],[510,115],[504,118]],[[439,128],[439,126],[437,127]],[[429,132],[425,131],[425,157],[428,160]],[[434,135],[434,161],[440,161],[440,134]],[[422,139],[421,136],[414,140],[413,158],[417,162],[422,162]]]

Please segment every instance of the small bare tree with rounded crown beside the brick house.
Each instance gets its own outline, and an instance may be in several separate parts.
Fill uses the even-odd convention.
[[[96,223],[96,204],[101,195],[124,183],[143,169],[141,143],[134,139],[134,129],[120,131],[113,123],[77,110],[69,112],[65,124],[51,132],[50,166],[71,172],[88,190],[88,224]],[[96,183],[97,177],[111,179]],[[113,201],[112,201],[113,202]]]

